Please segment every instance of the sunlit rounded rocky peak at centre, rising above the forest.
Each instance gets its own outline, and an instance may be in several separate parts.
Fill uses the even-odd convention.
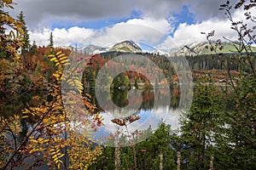
[[[113,45],[109,51],[119,51],[123,53],[142,53],[143,50],[133,41],[119,42]]]

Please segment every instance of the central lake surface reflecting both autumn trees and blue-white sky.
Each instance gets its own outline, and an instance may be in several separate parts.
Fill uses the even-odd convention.
[[[132,91],[133,89],[130,91],[112,89],[110,97],[107,95],[107,91],[102,91],[103,98],[104,96],[108,96],[108,98],[104,98],[106,102],[101,103],[101,105],[97,103],[94,91],[90,91],[92,101],[95,102],[94,104],[99,108],[98,111],[104,118],[104,126],[98,127],[94,133],[95,139],[104,141],[104,139],[109,139],[109,136],[113,135],[113,133],[122,133],[125,137],[129,137],[134,132],[146,131],[148,127],[155,130],[160,122],[170,124],[173,130],[179,127],[178,121],[181,113],[181,108],[179,107],[181,104],[181,92],[179,87],[171,89],[171,96],[169,96],[171,99],[169,101],[166,101],[166,89],[156,88],[153,90],[146,88],[135,92]],[[129,94],[132,95],[129,96]],[[157,105],[155,105],[156,100]],[[118,107],[108,105],[110,102],[113,102]],[[127,107],[129,102],[131,102],[131,105]],[[137,106],[138,104],[139,107]],[[137,116],[139,119],[129,122],[127,117],[132,116]],[[114,123],[113,120],[125,123]]]

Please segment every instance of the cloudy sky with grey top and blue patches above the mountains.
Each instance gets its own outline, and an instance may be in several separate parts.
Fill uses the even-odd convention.
[[[236,38],[219,11],[224,0],[14,0],[17,16],[26,17],[31,42],[55,47],[90,44],[109,47],[133,40],[148,47],[170,49],[206,41],[201,32],[215,30],[216,39]],[[231,1],[231,4],[236,1]],[[232,12],[233,13],[233,12]],[[234,12],[240,19],[241,11]]]

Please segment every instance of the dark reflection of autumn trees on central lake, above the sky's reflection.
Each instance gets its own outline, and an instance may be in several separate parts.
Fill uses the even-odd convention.
[[[95,91],[90,89],[90,92],[88,92],[91,95],[91,102],[92,104],[96,105],[99,111],[103,111],[102,108],[105,108],[107,111],[111,111],[113,110],[113,108],[111,108],[112,105],[109,105],[111,102],[113,102],[115,105],[117,105],[118,107],[124,108],[126,105],[129,104],[129,102],[131,102],[131,107],[129,109],[136,109],[137,108],[137,104],[140,104],[139,110],[152,110],[153,106],[154,106],[154,102],[157,100],[158,101],[158,105],[155,106],[159,106],[159,104],[161,105],[168,105],[170,108],[172,108],[173,110],[177,109],[177,107],[180,106],[180,88],[178,86],[175,86],[173,88],[171,88],[171,99],[170,102],[166,101],[166,89],[164,88],[155,88],[150,89],[150,88],[145,88],[142,90],[138,90],[137,93],[132,93],[131,91],[133,91],[132,89],[129,90],[121,90],[121,89],[111,89],[111,94],[110,94],[110,98],[108,95],[108,91],[107,90],[101,90],[100,94],[102,94],[102,98],[106,101],[104,103],[101,103],[101,105],[98,104],[97,99],[96,99],[96,95],[95,95]],[[130,95],[129,95],[130,93]],[[143,101],[140,102],[140,96],[143,96]],[[107,98],[108,97],[108,98]],[[129,98],[129,99],[128,99]],[[132,107],[132,105],[134,107]]]

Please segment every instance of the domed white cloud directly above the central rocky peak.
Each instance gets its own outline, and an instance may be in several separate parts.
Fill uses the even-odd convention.
[[[132,19],[98,31],[92,42],[104,46],[113,42],[133,40],[153,45],[172,29],[171,24],[165,19]]]

